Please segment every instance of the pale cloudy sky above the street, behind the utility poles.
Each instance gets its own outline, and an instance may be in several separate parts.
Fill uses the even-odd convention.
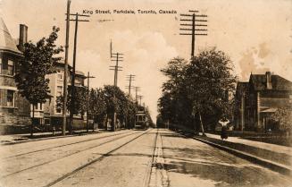
[[[57,26],[57,42],[64,46],[66,4],[66,0],[0,0],[0,16],[13,38],[18,38],[19,24],[23,23],[29,27],[29,40],[34,42]],[[96,10],[110,10],[111,14]],[[177,13],[163,14],[159,10]],[[190,58],[191,38],[179,35],[179,13],[188,10],[208,15],[208,36],[196,37],[196,55],[212,47],[224,51],[234,64],[238,81],[247,81],[251,72],[266,71],[292,81],[291,0],[71,0],[71,13],[93,12],[88,13],[88,22],[79,22],[77,70],[96,76],[90,80],[93,88],[113,84],[113,71],[109,70],[114,65],[110,60],[112,40],[113,52],[124,54],[118,86],[128,92],[126,76],[135,74],[133,86],[141,88],[138,94],[143,95],[142,102],[155,121],[157,100],[166,80],[160,69],[173,57]],[[71,21],[70,63],[74,24]]]

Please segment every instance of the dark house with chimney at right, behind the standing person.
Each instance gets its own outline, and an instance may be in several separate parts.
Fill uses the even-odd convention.
[[[279,107],[291,105],[292,82],[279,75],[251,74],[248,82],[238,82],[235,95],[235,129],[240,131],[278,131],[271,115]]]

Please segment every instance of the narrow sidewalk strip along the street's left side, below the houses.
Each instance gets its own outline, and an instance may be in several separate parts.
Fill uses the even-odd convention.
[[[88,133],[91,134],[91,133],[100,133],[100,132],[104,132],[104,130],[99,129],[99,130],[96,130],[95,132],[92,132],[92,130],[89,130]],[[87,133],[87,130],[74,131],[73,134],[68,134],[68,132],[66,132],[67,134],[66,136],[63,136],[62,132],[54,132],[54,135],[52,132],[36,132],[36,133],[33,133],[33,138],[29,138],[30,133],[0,135],[0,145],[22,143],[22,142],[34,141],[34,140],[47,140],[47,139],[79,136],[82,133]]]

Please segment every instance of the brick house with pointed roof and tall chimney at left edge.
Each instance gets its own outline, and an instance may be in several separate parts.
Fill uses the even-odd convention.
[[[30,123],[29,102],[21,97],[14,74],[23,58],[21,47],[27,41],[27,26],[20,26],[20,43],[16,42],[0,18],[0,131],[9,131],[9,126]]]

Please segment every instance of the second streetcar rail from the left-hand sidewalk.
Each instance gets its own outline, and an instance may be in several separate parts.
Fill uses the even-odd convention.
[[[11,175],[13,175],[13,174],[19,174],[19,173],[21,173],[21,172],[27,171],[27,170],[29,170],[29,169],[32,169],[32,168],[35,168],[35,167],[38,167],[38,166],[44,166],[44,165],[49,164],[49,163],[52,163],[52,162],[54,162],[54,161],[57,161],[57,160],[63,159],[64,157],[70,157],[70,156],[72,156],[72,155],[76,155],[76,154],[78,154],[78,153],[80,153],[80,152],[83,152],[83,151],[86,151],[86,150],[88,150],[88,149],[94,149],[94,148],[97,148],[97,147],[103,146],[104,144],[107,144],[107,143],[113,142],[114,140],[119,140],[119,139],[121,139],[121,138],[124,138],[124,137],[129,136],[129,135],[133,135],[133,134],[136,134],[136,133],[138,133],[138,132],[129,133],[129,134],[123,135],[123,136],[121,136],[121,137],[118,137],[118,138],[116,138],[116,139],[109,140],[109,141],[105,141],[105,142],[103,142],[103,143],[99,143],[99,144],[97,144],[97,145],[95,145],[95,146],[91,146],[91,147],[89,147],[89,148],[87,148],[87,149],[77,150],[76,152],[74,152],[74,153],[70,153],[70,154],[65,155],[65,156],[63,156],[63,157],[58,157],[58,158],[56,158],[56,159],[53,159],[53,160],[50,160],[50,161],[47,161],[47,162],[44,162],[44,163],[41,163],[41,164],[38,164],[38,165],[35,165],[35,166],[30,166],[30,167],[27,167],[27,168],[25,168],[25,169],[21,169],[21,170],[19,170],[19,171],[17,171],[17,172],[13,172],[13,173],[11,173],[11,174],[5,174],[5,175],[1,176],[0,178],[6,178],[6,177],[11,176]],[[122,133],[122,134],[124,134],[124,133]]]

